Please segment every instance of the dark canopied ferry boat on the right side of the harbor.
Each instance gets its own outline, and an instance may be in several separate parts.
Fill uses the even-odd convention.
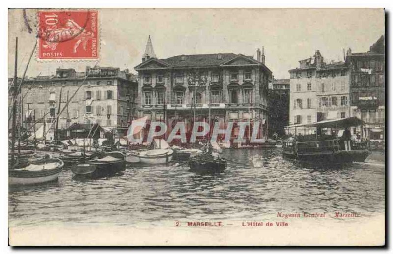
[[[315,128],[346,128],[358,126],[363,123],[357,117],[348,117],[338,120],[326,120],[309,124],[298,124],[299,127]],[[287,126],[291,128],[293,126]],[[315,137],[307,140],[309,136],[291,137],[283,144],[283,156],[298,160],[304,160],[314,163],[348,163],[363,162],[370,155],[366,149],[349,150],[343,149],[340,140],[334,136]]]

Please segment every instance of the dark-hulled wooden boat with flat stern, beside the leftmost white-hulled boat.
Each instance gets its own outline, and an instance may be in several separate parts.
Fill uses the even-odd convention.
[[[125,170],[125,156],[121,152],[108,152],[102,158],[96,158],[71,168],[76,177],[99,178],[112,176]]]

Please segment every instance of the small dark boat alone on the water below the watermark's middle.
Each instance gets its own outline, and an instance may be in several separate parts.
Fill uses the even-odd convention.
[[[199,155],[190,158],[188,161],[190,171],[206,174],[218,174],[226,169],[226,162],[221,158],[212,155]]]

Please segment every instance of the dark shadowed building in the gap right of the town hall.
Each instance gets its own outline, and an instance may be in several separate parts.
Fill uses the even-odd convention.
[[[269,84],[269,128],[270,135],[285,134],[284,127],[289,125],[289,79],[273,79]]]

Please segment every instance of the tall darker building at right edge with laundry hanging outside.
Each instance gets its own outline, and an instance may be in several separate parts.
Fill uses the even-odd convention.
[[[366,122],[365,137],[385,139],[385,37],[370,46],[368,52],[347,51],[351,70],[351,116]]]

